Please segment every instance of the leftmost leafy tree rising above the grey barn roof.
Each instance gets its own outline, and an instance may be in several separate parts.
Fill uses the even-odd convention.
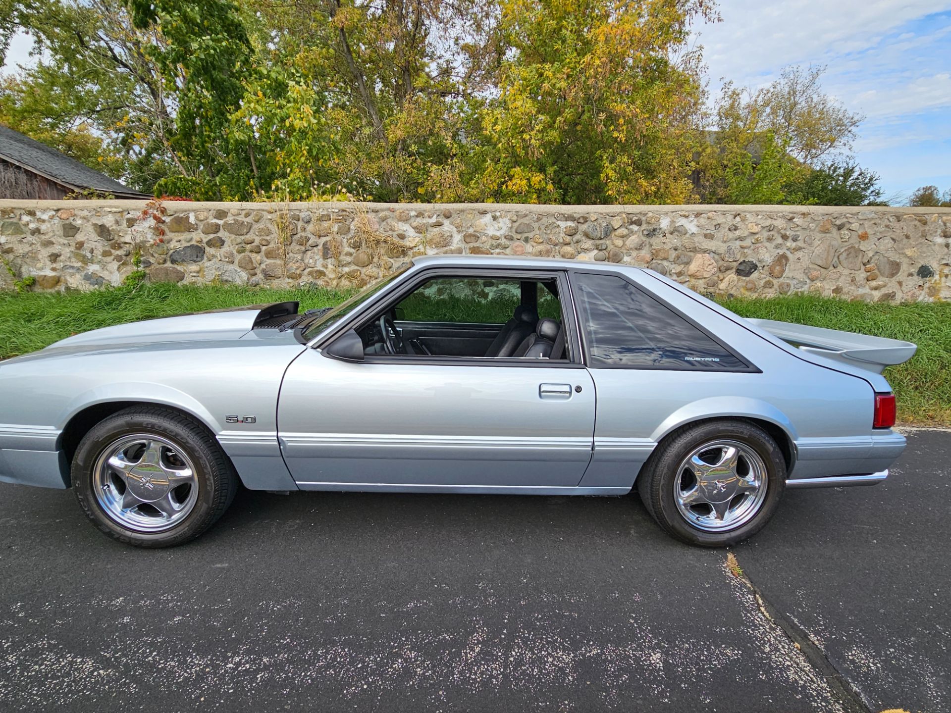
[[[122,162],[113,175],[141,190],[184,170],[169,145],[174,100],[146,55],[164,44],[160,35],[136,29],[121,0],[6,2],[13,27],[29,30],[37,50],[35,66],[6,87],[13,128],[49,142],[85,125]]]

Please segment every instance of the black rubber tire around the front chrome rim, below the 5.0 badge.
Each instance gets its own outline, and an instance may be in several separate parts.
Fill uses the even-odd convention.
[[[94,491],[93,471],[100,457],[111,444],[131,434],[164,438],[193,464],[197,495],[190,511],[167,530],[149,532],[126,527],[107,513]],[[198,537],[231,505],[239,482],[230,460],[203,423],[158,406],[131,407],[93,426],[76,449],[71,476],[76,499],[96,529],[141,548],[175,547]]]

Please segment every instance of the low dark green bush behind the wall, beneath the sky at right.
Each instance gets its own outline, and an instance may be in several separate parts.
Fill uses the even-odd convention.
[[[854,161],[831,161],[802,173],[786,186],[785,202],[794,205],[881,204],[878,174]]]

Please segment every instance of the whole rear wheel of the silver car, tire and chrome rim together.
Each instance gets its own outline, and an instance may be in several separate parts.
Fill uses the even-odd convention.
[[[718,420],[670,434],[637,477],[650,515],[691,545],[725,547],[766,525],[786,487],[786,460],[759,426]]]

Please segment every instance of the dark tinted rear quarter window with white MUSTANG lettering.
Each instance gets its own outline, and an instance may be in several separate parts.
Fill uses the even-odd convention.
[[[575,274],[592,367],[725,371],[747,367],[719,343],[625,279]]]

